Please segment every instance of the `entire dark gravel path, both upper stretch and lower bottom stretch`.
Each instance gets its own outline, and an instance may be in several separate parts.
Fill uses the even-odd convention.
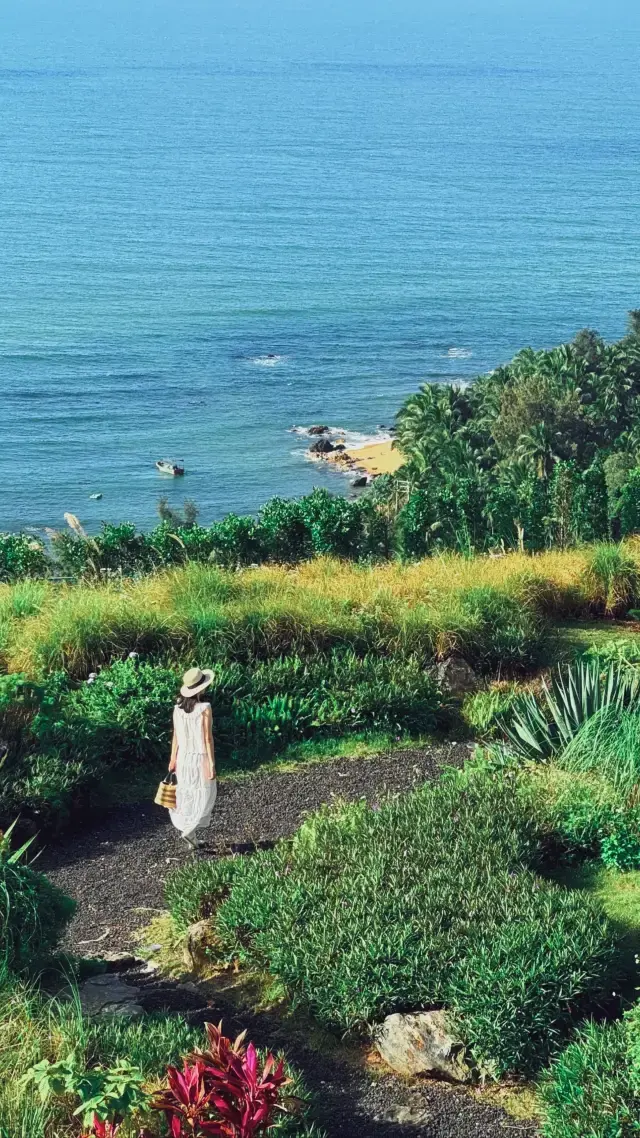
[[[194,856],[251,850],[288,836],[310,810],[336,798],[366,798],[434,778],[445,765],[468,757],[466,744],[449,744],[364,759],[336,759],[297,770],[262,772],[223,781],[206,847],[192,855],[153,803],[110,810],[99,824],[56,848],[38,867],[79,901],[67,947],[89,956],[132,947],[132,933],[163,908],[163,884],[175,866]],[[138,980],[136,982],[139,982]],[[534,1138],[518,1122],[471,1094],[437,1082],[405,1082],[368,1072],[360,1063],[313,1050],[304,1033],[269,1012],[238,1013],[219,993],[207,1011],[202,997],[172,981],[149,978],[142,1003],[149,1011],[182,1012],[192,1022],[223,1017],[230,1033],[248,1028],[261,1046],[284,1049],[314,1092],[315,1116],[329,1138]]]

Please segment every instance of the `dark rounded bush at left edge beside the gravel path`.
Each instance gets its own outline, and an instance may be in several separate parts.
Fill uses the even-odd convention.
[[[11,852],[11,830],[0,834],[0,979],[41,965],[75,909],[71,898],[24,863],[26,847]]]

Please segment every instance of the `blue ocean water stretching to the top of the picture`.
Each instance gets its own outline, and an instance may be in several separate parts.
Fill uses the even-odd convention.
[[[293,426],[621,336],[639,56],[623,0],[5,0],[0,528],[346,492]]]

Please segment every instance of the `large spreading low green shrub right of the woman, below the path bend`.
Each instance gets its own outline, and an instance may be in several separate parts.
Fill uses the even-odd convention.
[[[508,772],[450,775],[378,811],[323,809],[233,871],[215,930],[325,1023],[445,1004],[485,1069],[531,1072],[607,989],[615,957],[589,898],[525,868],[540,836]],[[188,879],[178,892],[202,912]]]

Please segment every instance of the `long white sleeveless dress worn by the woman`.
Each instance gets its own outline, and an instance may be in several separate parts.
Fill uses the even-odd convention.
[[[177,830],[188,836],[208,826],[218,797],[218,783],[207,777],[208,756],[205,750],[203,716],[207,703],[196,703],[192,711],[173,709],[173,727],[178,742],[175,759],[175,809],[170,810]]]

